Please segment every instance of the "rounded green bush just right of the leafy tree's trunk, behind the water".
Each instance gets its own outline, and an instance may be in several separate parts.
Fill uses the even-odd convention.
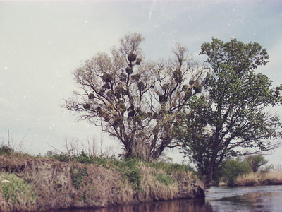
[[[221,181],[227,182],[228,185],[233,185],[239,175],[247,174],[251,171],[250,165],[245,160],[226,160],[219,166],[216,176]]]

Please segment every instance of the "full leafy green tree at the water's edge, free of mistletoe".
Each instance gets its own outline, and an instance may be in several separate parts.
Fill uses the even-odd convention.
[[[226,158],[279,146],[281,121],[266,109],[281,104],[282,86],[273,88],[266,75],[255,73],[269,58],[257,42],[213,38],[211,43],[204,42],[200,54],[207,55],[209,68],[202,81],[203,93],[190,99],[188,111],[192,112],[186,112],[176,132],[185,145],[184,153],[209,185]]]

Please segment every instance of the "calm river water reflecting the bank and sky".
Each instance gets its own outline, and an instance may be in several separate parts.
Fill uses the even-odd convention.
[[[179,199],[100,209],[69,209],[60,212],[221,212],[282,211],[282,186],[212,187],[205,199]],[[58,211],[56,211],[58,212]]]

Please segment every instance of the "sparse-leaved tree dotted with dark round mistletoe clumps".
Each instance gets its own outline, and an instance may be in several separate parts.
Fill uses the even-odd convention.
[[[202,67],[179,44],[170,59],[145,61],[143,40],[137,33],[125,35],[110,54],[85,61],[74,71],[80,90],[65,107],[121,141],[125,158],[155,160],[165,148],[180,145],[173,126],[201,92]]]

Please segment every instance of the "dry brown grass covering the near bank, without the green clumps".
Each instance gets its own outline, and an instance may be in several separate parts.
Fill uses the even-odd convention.
[[[167,170],[143,163],[137,163],[137,166],[140,168],[142,189],[137,189],[130,178],[124,177],[114,163],[104,167],[75,161],[60,162],[51,158],[0,156],[1,172],[8,175],[14,173],[29,188],[30,193],[27,194],[33,195],[35,202],[28,204],[25,197],[16,198],[18,202],[26,203],[26,211],[98,208],[140,201],[192,198],[201,194],[192,172],[174,170],[168,173]],[[8,201],[3,194],[0,191],[2,211],[23,210],[23,205],[7,206]]]

